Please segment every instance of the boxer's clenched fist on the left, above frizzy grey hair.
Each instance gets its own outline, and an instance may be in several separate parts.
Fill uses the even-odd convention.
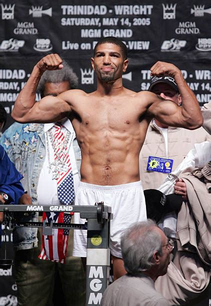
[[[36,64],[40,71],[62,69],[62,59],[56,53],[42,57]]]

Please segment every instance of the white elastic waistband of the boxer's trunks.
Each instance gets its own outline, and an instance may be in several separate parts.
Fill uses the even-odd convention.
[[[95,190],[118,190],[118,189],[126,189],[126,188],[136,188],[136,187],[142,187],[141,181],[134,181],[131,183],[127,184],[121,184],[121,185],[94,185],[94,184],[89,184],[83,181],[79,182],[79,187],[80,188],[90,188],[90,189],[95,189]]]

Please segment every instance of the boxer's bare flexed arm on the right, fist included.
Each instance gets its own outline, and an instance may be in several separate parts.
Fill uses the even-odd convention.
[[[181,126],[194,129],[202,125],[203,117],[196,96],[185,82],[181,71],[173,64],[157,61],[151,67],[151,74],[160,76],[167,74],[172,76],[181,95],[182,106],[172,103],[155,102],[149,106],[148,111],[160,122],[170,126]],[[175,104],[175,103],[174,103]]]

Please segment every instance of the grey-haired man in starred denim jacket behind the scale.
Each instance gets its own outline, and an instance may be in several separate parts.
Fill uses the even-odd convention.
[[[39,83],[41,96],[57,95],[68,89],[75,88],[77,76],[72,69],[65,64],[64,71],[43,74]],[[70,133],[72,143],[69,148],[70,161],[74,181],[74,189],[79,182],[80,149],[75,138],[74,130],[68,119],[63,125]],[[39,123],[13,123],[2,135],[0,143],[7,151],[16,168],[23,175],[22,184],[27,191],[23,203],[37,205],[38,182],[44,160],[47,158],[47,142],[45,134],[53,124]],[[50,150],[49,150],[50,151]],[[74,156],[73,156],[74,155]],[[45,187],[44,187],[45,188]],[[54,190],[52,190],[54,192]],[[57,190],[55,191],[57,192]],[[49,192],[46,194],[48,197]],[[50,196],[50,194],[49,194]],[[46,203],[50,204],[50,203]],[[38,213],[25,216],[25,220],[38,221]],[[66,305],[84,304],[84,271],[81,259],[70,256],[69,249],[72,244],[72,232],[68,243],[66,263],[51,262],[38,259],[40,253],[41,233],[37,228],[16,228],[13,232],[13,244],[15,252],[17,299],[21,305],[48,305],[52,298],[55,274],[59,273]],[[38,247],[37,247],[38,246]],[[26,264],[27,263],[27,264]]]

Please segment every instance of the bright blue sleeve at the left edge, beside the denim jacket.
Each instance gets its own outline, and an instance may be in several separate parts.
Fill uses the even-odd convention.
[[[4,148],[0,145],[0,191],[9,196],[9,204],[18,204],[20,196],[24,193],[20,179],[22,175],[17,171],[9,159]]]

